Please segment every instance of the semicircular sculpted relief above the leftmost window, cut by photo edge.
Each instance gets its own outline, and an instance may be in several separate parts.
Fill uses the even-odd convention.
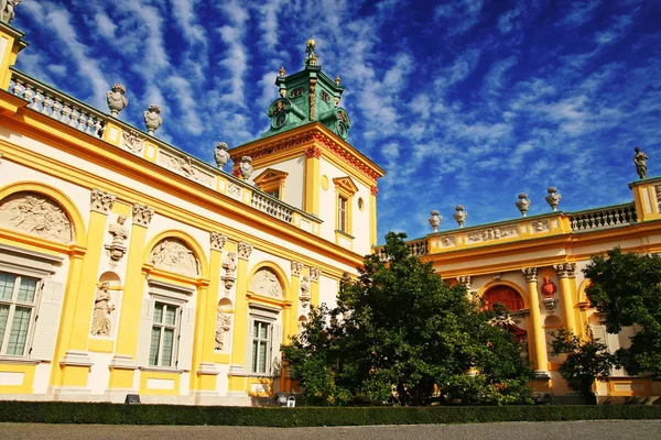
[[[46,240],[63,243],[74,241],[74,226],[64,209],[37,193],[22,191],[2,199],[0,226]]]

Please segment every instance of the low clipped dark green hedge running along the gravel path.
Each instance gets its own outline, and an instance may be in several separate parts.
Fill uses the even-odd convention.
[[[661,419],[661,406],[251,408],[0,402],[0,422],[318,427],[496,421]]]

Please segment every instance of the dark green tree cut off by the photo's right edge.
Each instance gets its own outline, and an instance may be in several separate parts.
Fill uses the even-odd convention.
[[[583,272],[592,282],[585,292],[605,314],[606,330],[636,326],[631,345],[616,352],[618,364],[629,374],[649,372],[661,380],[661,256],[615,248],[606,257],[594,256]]]

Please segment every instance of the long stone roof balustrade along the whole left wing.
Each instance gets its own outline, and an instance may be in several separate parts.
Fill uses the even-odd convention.
[[[9,91],[28,101],[26,107],[31,110],[104,141],[107,141],[107,135],[105,136],[104,134],[110,128],[110,138],[116,136],[116,139],[121,140],[118,141],[118,147],[129,151],[140,160],[145,160],[143,157],[144,146],[149,142],[155,146],[154,151],[158,152],[151,162],[155,162],[163,168],[182,175],[207,188],[217,188],[217,180],[226,180],[228,187],[235,188],[238,191],[238,195],[235,195],[237,197],[232,197],[228,191],[228,197],[250,204],[253,208],[284,222],[293,223],[294,212],[307,220],[308,224],[321,222],[315,216],[311,216],[303,210],[293,208],[270,195],[261,193],[242,179],[189,156],[181,150],[150,136],[126,122],[111,118],[83,101],[57,91],[20,70],[12,68],[11,72]],[[243,191],[252,193],[252,196],[245,200],[241,196]]]

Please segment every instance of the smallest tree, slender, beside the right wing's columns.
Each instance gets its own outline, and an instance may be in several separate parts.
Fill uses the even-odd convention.
[[[585,403],[593,403],[592,386],[595,381],[608,377],[615,364],[615,356],[608,352],[605,344],[594,339],[589,328],[587,334],[587,340],[581,340],[573,332],[561,328],[557,333],[553,333],[551,348],[553,355],[566,355],[559,372],[567,381],[570,388],[578,392],[585,398]]]

